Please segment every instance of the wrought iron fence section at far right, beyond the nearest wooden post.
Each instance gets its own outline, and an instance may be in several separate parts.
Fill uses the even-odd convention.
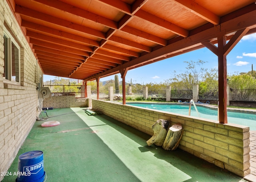
[[[255,89],[236,90],[230,89],[233,101],[256,101]]]

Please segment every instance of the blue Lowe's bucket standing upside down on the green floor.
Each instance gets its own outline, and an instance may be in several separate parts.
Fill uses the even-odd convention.
[[[42,151],[30,151],[19,156],[19,175],[16,182],[43,182],[44,157]]]

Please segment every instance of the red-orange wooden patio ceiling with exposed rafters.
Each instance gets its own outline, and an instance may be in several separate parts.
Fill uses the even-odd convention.
[[[256,32],[255,0],[7,0],[44,72],[82,80]]]

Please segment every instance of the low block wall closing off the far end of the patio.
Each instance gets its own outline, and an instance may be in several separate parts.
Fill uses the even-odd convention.
[[[43,108],[76,108],[88,107],[86,98],[76,98],[76,96],[50,96],[43,101]]]

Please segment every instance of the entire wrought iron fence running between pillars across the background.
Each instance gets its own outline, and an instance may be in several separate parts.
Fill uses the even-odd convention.
[[[44,85],[52,93],[58,95],[75,95],[81,97],[81,85]],[[256,101],[256,89],[230,89],[231,101]],[[115,94],[122,94],[122,90],[114,90]],[[192,90],[171,90],[171,99],[192,99]],[[126,96],[143,97],[143,90],[126,90]],[[84,96],[83,96],[84,97]],[[92,98],[97,98],[97,90],[92,90]],[[99,98],[109,98],[108,90],[99,90]],[[148,90],[148,98],[166,98],[166,90]],[[218,90],[199,90],[199,100],[218,100]]]

